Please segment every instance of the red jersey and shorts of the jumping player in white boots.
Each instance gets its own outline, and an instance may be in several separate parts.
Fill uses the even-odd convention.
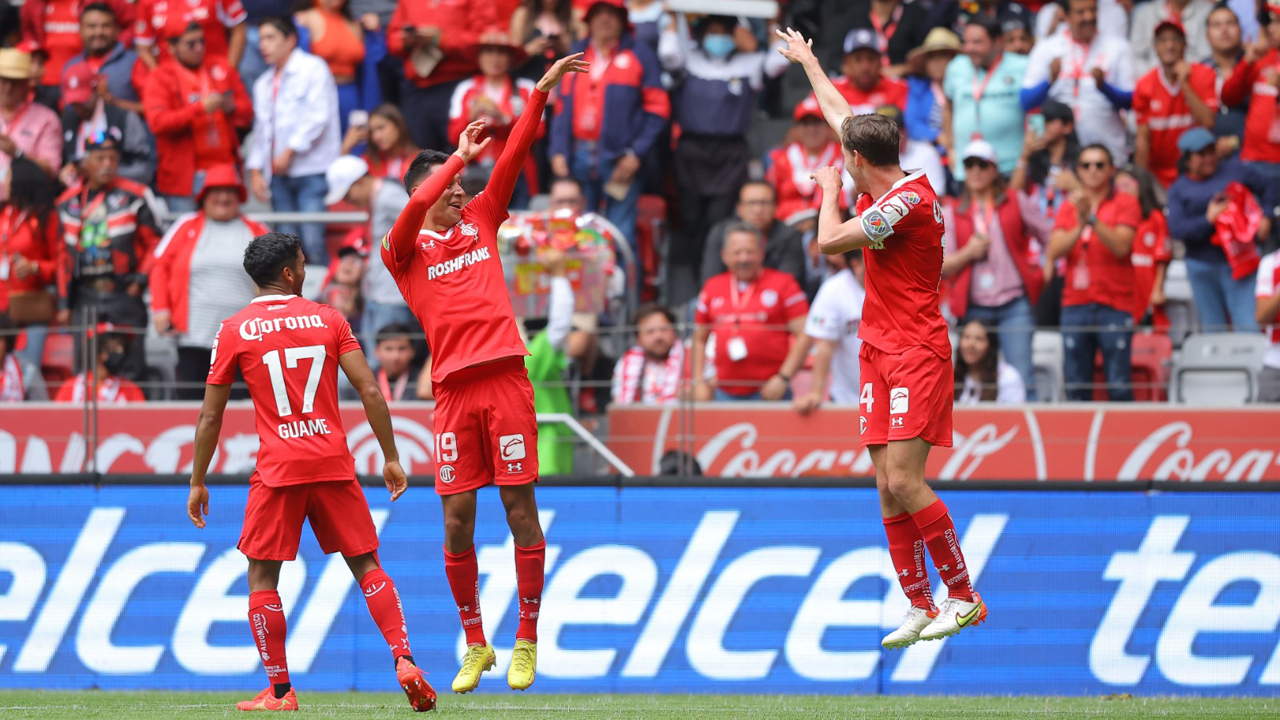
[[[942,318],[942,205],[923,170],[856,202],[873,245],[858,337],[864,446],[923,438],[951,447],[951,340]]]

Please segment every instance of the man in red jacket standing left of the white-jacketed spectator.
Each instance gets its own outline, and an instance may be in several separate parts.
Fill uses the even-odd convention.
[[[160,158],[156,191],[174,213],[191,213],[210,168],[239,164],[238,131],[253,124],[253,102],[225,58],[210,55],[192,23],[147,79],[143,105]]]

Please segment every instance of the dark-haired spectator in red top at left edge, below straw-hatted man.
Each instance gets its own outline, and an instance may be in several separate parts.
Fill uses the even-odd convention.
[[[49,286],[67,293],[67,243],[54,208],[54,181],[40,165],[14,159],[4,186],[9,202],[0,210],[0,313],[8,310],[26,328],[22,355],[38,366],[56,307]]]

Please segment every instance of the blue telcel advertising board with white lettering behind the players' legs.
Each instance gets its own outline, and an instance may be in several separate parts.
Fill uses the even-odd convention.
[[[236,550],[247,488],[211,493],[196,530],[183,487],[0,487],[0,687],[260,689]],[[447,683],[463,639],[439,501],[366,493],[413,655]],[[882,652],[906,603],[872,489],[543,488],[534,691],[1280,694],[1280,496],[945,500],[989,619]],[[499,664],[480,689],[506,691],[512,541],[495,492],[479,515]],[[307,533],[280,579],[293,682],[394,691],[342,557]]]

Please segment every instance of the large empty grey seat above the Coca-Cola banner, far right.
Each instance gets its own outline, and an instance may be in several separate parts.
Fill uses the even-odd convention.
[[[1261,333],[1188,336],[1174,364],[1172,401],[1217,406],[1253,402],[1266,350],[1267,338]]]

